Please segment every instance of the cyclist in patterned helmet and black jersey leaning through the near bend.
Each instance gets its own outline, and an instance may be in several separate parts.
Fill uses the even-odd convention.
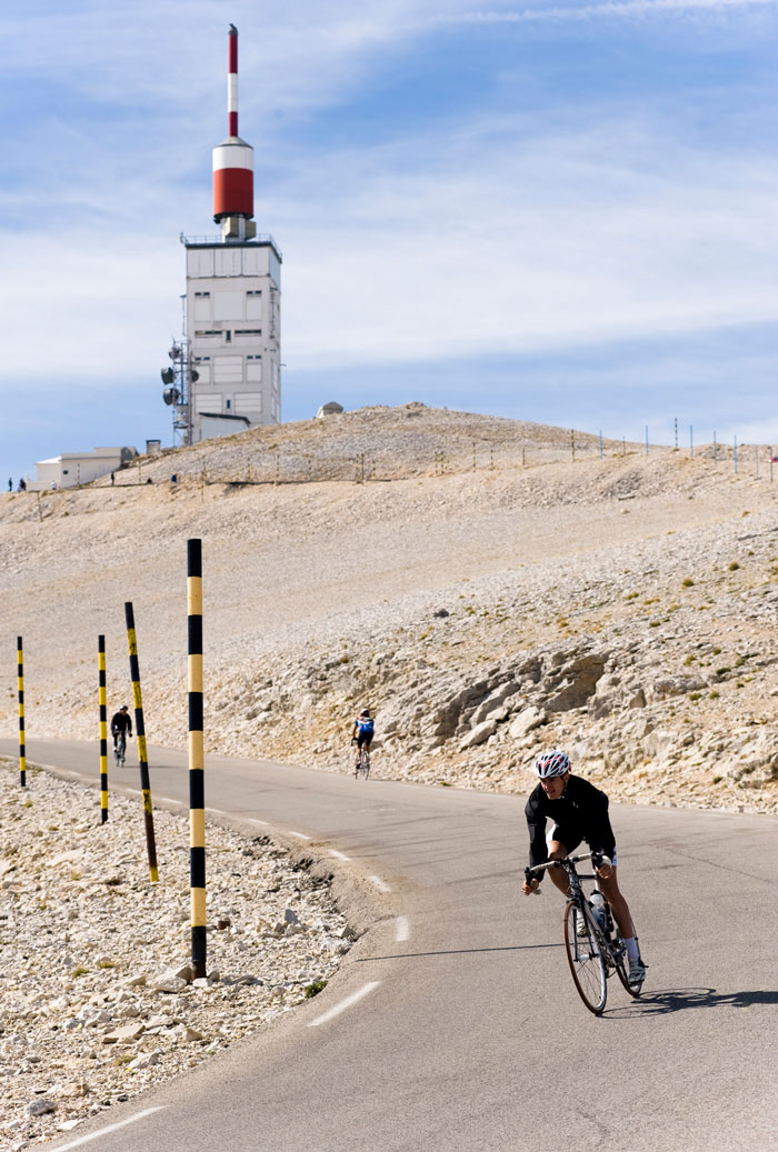
[[[595,869],[599,886],[611,905],[627,949],[629,980],[634,984],[642,982],[645,979],[645,965],[637,949],[627,901],[619,892],[615,879],[615,839],[607,814],[607,796],[582,776],[574,776],[571,773],[569,757],[558,749],[538,756],[535,775],[539,776],[539,783],[524,808],[529,828],[530,867],[543,864],[546,859],[571,856],[582,840],[586,840],[594,852],[602,852],[604,859]],[[546,833],[547,819],[551,819],[552,826]],[[562,895],[567,895],[566,872],[556,867],[547,871],[552,884]],[[537,878],[532,879],[531,886],[524,881],[521,890],[529,896],[537,892],[539,884]]]

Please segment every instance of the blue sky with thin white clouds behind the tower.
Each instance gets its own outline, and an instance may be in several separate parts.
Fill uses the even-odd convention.
[[[778,444],[778,0],[31,0],[0,16],[0,475],[171,442],[231,21],[285,419]]]

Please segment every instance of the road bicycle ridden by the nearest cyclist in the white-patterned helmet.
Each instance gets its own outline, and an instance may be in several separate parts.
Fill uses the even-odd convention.
[[[567,904],[565,905],[565,952],[571,965],[573,982],[584,1005],[595,1016],[599,1016],[607,999],[607,980],[615,972],[630,996],[639,996],[643,982],[629,982],[629,960],[624,940],[614,929],[611,909],[601,893],[599,880],[595,873],[580,874],[575,865],[579,861],[591,859],[595,867],[603,863],[599,852],[582,852],[580,856],[567,856],[559,861],[546,861],[536,867],[524,869],[527,884],[531,884],[532,873],[545,867],[562,867],[569,880]],[[581,887],[582,880],[594,880],[594,893],[601,893],[592,907]],[[635,938],[635,941],[637,938]]]

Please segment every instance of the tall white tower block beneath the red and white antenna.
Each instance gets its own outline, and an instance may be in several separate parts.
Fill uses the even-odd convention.
[[[191,441],[280,424],[281,253],[272,236],[183,237]]]

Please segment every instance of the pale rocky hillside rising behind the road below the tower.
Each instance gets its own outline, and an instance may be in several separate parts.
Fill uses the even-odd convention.
[[[717,457],[413,404],[8,495],[0,728],[16,635],[30,738],[95,737],[98,632],[131,703],[133,600],[146,730],[183,745],[198,536],[213,751],[347,771],[370,704],[377,775],[523,793],[559,744],[615,797],[776,811],[778,484]]]

